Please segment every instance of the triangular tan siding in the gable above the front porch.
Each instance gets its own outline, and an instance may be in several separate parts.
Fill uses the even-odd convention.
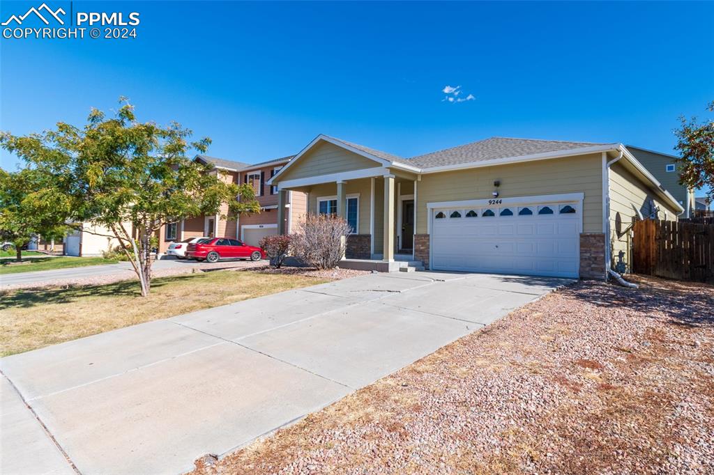
[[[351,170],[361,170],[381,166],[380,163],[362,155],[345,150],[331,143],[323,142],[303,155],[286,170],[281,180],[293,180],[317,175],[329,175]]]

